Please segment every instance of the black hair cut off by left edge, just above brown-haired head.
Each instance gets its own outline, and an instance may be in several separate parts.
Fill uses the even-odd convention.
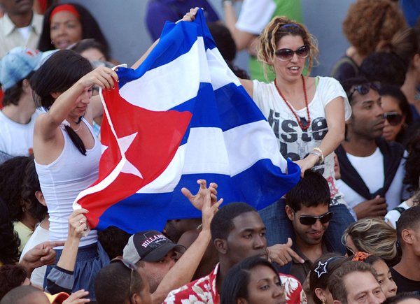
[[[0,262],[3,265],[18,263],[20,257],[19,246],[20,239],[9,218],[7,205],[0,198]],[[0,289],[1,285],[0,282]]]

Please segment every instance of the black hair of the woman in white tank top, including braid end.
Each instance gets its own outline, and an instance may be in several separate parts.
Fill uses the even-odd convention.
[[[55,99],[51,93],[65,92],[80,78],[92,71],[90,62],[72,50],[55,52],[31,77],[34,100],[38,106],[49,110]],[[79,124],[81,117],[79,117]],[[73,144],[81,154],[86,155],[86,148],[76,131],[65,126]]]

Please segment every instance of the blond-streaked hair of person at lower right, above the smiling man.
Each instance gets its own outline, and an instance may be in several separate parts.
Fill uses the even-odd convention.
[[[346,243],[348,236],[358,251],[379,256],[388,266],[395,265],[400,259],[397,249],[397,231],[386,224],[384,219],[379,217],[359,219],[344,231],[343,244]]]

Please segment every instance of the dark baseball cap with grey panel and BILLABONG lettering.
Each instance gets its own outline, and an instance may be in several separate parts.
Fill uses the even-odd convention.
[[[186,247],[174,244],[159,231],[141,231],[128,239],[128,243],[124,247],[123,259],[131,263],[159,261],[172,249],[179,253],[186,252]]]

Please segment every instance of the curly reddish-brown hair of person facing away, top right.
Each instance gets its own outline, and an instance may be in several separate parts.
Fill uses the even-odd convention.
[[[358,0],[343,20],[344,35],[362,56],[374,52],[380,41],[390,41],[405,27],[401,10],[388,0]]]

